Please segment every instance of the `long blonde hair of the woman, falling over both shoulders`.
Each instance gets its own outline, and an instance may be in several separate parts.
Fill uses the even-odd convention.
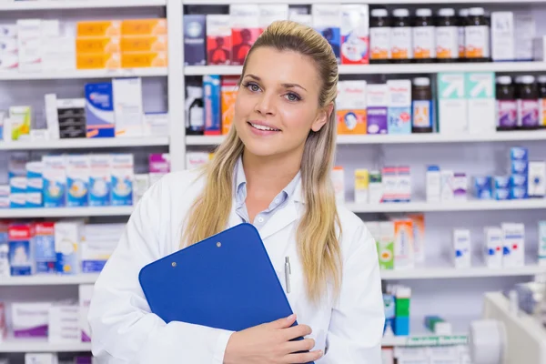
[[[338,63],[331,46],[322,35],[306,25],[290,21],[269,25],[250,49],[247,61],[259,47],[272,47],[308,56],[317,67],[322,81],[319,106],[334,105],[326,125],[318,132],[310,131],[305,144],[300,172],[306,208],[299,221],[296,238],[308,298],[318,301],[326,292],[329,281],[333,282],[337,297],[342,271],[339,247],[341,226],[330,173],[336,153]],[[243,66],[243,76],[247,61]],[[234,169],[243,148],[236,128],[231,127],[226,140],[217,148],[215,157],[204,170],[205,188],[190,209],[182,247],[208,238],[227,227],[232,207]]]

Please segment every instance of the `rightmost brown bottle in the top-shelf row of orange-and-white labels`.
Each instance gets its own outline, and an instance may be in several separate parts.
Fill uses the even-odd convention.
[[[472,7],[465,27],[465,56],[469,62],[490,61],[490,26],[483,7]]]

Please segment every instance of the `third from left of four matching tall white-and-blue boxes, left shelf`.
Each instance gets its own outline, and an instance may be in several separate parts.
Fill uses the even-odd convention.
[[[89,206],[110,206],[112,158],[108,154],[89,156]]]

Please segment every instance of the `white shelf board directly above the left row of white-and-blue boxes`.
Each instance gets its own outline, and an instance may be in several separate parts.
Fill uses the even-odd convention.
[[[36,150],[36,149],[92,149],[109,147],[166,147],[167,136],[151,137],[100,137],[58,140],[39,140],[28,142],[0,142],[0,150]]]

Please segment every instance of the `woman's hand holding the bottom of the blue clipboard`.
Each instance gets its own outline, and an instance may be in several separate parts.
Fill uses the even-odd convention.
[[[296,315],[291,315],[233,333],[227,342],[224,364],[301,364],[320,359],[322,350],[297,353],[313,349],[315,340],[290,341],[311,333],[307,325],[291,328],[294,322]]]

